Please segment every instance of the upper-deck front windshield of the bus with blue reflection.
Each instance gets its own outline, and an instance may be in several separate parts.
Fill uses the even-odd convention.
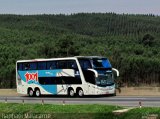
[[[111,64],[107,58],[94,58],[92,61],[94,68],[111,68]]]

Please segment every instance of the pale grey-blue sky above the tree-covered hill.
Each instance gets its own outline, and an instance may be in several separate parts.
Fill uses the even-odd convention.
[[[81,12],[160,15],[160,0],[0,0],[0,14]]]

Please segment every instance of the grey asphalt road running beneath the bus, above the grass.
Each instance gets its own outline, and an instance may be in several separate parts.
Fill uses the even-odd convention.
[[[160,97],[136,97],[136,96],[87,96],[87,97],[67,97],[67,96],[0,96],[0,102],[7,103],[45,103],[45,104],[106,104],[125,107],[160,107]]]

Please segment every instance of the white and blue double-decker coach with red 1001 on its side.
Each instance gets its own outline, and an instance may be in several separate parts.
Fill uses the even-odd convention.
[[[17,92],[41,95],[116,94],[119,71],[101,56],[19,60],[16,62]]]

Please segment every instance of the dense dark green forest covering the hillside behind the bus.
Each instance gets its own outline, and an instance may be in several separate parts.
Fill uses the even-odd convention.
[[[160,86],[160,16],[0,15],[0,88],[16,87],[16,61],[105,56],[121,86]]]

